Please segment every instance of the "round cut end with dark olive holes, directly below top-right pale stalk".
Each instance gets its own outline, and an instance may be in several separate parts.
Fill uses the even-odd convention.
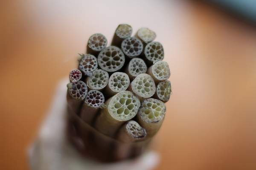
[[[145,46],[145,57],[151,62],[163,60],[163,45],[160,42],[150,42]]]

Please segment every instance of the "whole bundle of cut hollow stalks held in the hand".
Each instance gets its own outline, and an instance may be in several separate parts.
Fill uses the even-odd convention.
[[[160,129],[172,94],[169,65],[156,34],[120,24],[112,43],[93,34],[67,84],[68,137],[100,161],[138,156]]]

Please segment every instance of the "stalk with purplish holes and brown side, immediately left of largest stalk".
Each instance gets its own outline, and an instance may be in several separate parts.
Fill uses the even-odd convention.
[[[87,93],[81,108],[81,119],[91,125],[94,117],[96,116],[96,113],[99,111],[99,108],[102,107],[104,102],[105,97],[102,92],[97,90],[90,90]]]

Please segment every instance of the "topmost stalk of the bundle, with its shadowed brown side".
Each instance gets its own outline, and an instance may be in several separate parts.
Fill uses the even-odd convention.
[[[120,24],[115,31],[111,45],[121,47],[121,43],[125,38],[131,37],[132,28],[128,24]]]

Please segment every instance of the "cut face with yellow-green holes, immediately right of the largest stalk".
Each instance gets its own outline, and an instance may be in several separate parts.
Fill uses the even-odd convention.
[[[157,123],[160,122],[166,113],[165,104],[157,99],[145,99],[141,103],[139,116],[147,123]]]

